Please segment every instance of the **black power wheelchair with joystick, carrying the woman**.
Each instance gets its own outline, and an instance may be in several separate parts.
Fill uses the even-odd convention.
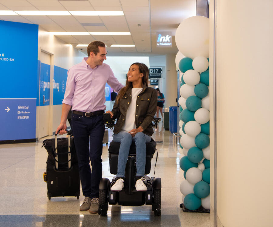
[[[113,128],[115,120],[110,117],[110,114],[104,114],[104,127]],[[160,119],[160,118],[159,118]],[[159,119],[154,121],[159,122]],[[160,119],[161,120],[161,119]],[[112,141],[109,145],[109,166],[110,173],[117,173],[118,153],[120,143]],[[156,151],[156,142],[154,140],[146,143],[146,165],[145,174],[150,173],[151,159]],[[112,182],[108,178],[102,178],[99,183],[99,208],[98,214],[105,216],[108,211],[109,204],[122,206],[142,206],[152,205],[154,215],[161,215],[161,178],[148,177],[145,175],[145,184],[147,191],[136,191],[135,179],[136,176],[136,145],[133,142],[130,147],[128,160],[125,168],[124,187],[121,191],[111,191],[111,187],[116,182],[116,177],[113,177]]]

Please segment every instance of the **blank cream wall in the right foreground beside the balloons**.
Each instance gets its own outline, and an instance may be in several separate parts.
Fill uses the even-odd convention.
[[[272,9],[272,0],[216,0],[217,214],[224,227],[273,222]]]

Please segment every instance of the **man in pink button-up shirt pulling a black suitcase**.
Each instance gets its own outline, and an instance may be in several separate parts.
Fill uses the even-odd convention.
[[[62,102],[61,123],[56,133],[66,133],[66,119],[72,106],[73,129],[79,174],[85,199],[80,211],[98,212],[99,181],[102,178],[103,113],[106,109],[106,82],[116,91],[123,85],[118,82],[106,60],[105,44],[93,41],[87,47],[88,57],[68,70],[66,92]],[[89,148],[90,144],[90,148]],[[92,171],[89,165],[91,160]]]

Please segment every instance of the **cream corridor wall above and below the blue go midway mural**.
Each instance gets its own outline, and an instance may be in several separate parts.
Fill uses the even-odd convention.
[[[76,50],[70,44],[66,44],[61,41],[57,37],[49,32],[45,31],[43,28],[39,26],[39,34],[38,34],[38,60],[40,60],[41,49],[53,54],[53,65],[69,69],[71,66],[82,61],[83,57],[87,57],[85,54]],[[53,70],[51,70],[51,73]],[[38,113],[39,107],[37,107],[36,114],[36,138],[38,137]],[[62,105],[53,105],[51,109],[51,122],[50,129],[51,131],[55,131],[58,127],[61,119]],[[67,126],[69,123],[67,122]],[[49,131],[50,133],[50,131]]]

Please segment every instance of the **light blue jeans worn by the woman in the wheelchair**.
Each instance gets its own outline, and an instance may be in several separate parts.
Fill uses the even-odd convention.
[[[143,177],[145,175],[146,164],[146,144],[151,141],[151,137],[138,132],[134,137],[128,132],[120,131],[113,136],[114,142],[120,142],[120,151],[118,158],[118,172],[117,177],[125,177],[125,167],[132,141],[136,144],[136,177]]]

